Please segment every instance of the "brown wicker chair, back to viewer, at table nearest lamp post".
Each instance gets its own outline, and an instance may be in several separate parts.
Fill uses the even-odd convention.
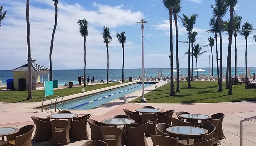
[[[152,113],[145,113],[141,115],[141,121],[147,121],[149,120],[150,122],[147,125],[146,129],[146,135],[156,135],[156,123],[157,123],[157,114],[152,114]]]

